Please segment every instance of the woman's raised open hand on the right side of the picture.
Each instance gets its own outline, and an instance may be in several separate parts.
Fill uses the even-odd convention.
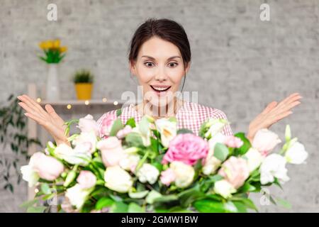
[[[298,93],[293,93],[286,97],[283,101],[279,102],[272,101],[269,103],[254,120],[250,122],[250,126],[248,128],[247,138],[252,142],[254,135],[262,128],[269,128],[277,121],[280,121],[282,118],[289,116],[293,112],[291,109],[295,106],[301,104],[299,101],[302,96]]]

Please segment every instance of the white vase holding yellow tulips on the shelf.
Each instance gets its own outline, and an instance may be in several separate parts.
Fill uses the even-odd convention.
[[[39,56],[40,60],[47,63],[47,86],[46,99],[57,101],[60,99],[59,79],[57,65],[65,57],[67,47],[60,46],[60,40],[46,40],[39,44],[45,53],[45,57]]]

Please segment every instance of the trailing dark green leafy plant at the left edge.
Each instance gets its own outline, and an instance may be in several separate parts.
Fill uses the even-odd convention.
[[[13,192],[11,177],[16,177],[17,183],[21,182],[21,172],[18,166],[20,158],[28,160],[28,147],[35,143],[41,145],[37,138],[28,138],[26,131],[26,116],[22,108],[18,106],[18,99],[9,96],[9,105],[0,108],[0,141],[3,144],[2,150],[10,145],[13,155],[1,153],[0,157],[0,183],[4,189]],[[9,155],[9,156],[7,156]]]

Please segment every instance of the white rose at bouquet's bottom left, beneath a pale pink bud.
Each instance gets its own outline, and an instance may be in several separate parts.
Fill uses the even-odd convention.
[[[75,184],[73,187],[67,189],[65,196],[73,206],[81,209],[91,191],[91,189],[83,189],[79,184]]]

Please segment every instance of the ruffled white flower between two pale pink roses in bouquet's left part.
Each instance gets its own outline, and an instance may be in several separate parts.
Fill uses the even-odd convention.
[[[86,166],[91,160],[91,154],[87,152],[86,148],[85,145],[82,144],[72,149],[69,145],[62,143],[55,148],[55,155],[72,165]]]

